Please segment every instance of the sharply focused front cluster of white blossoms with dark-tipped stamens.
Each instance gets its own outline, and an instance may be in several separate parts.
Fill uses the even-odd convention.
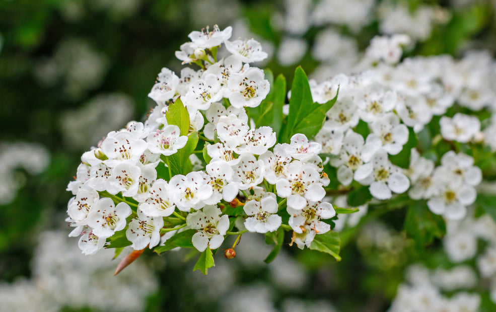
[[[192,246],[203,252],[230,233],[282,225],[294,230],[298,247],[310,247],[331,229],[323,220],[335,215],[322,202],[329,179],[321,145],[298,133],[276,143],[271,127],[253,126],[247,108],[259,106],[270,89],[263,70],[250,66],[267,56],[258,42],[229,41],[231,27],[189,37],[176,56],[200,69],[186,67],[178,76],[163,68],[149,94],[157,106],[148,119],[108,133],[83,154],[68,185],[75,195],[67,207],[70,236],[80,236],[79,247],[91,255],[116,237],[143,250],[191,229]],[[230,55],[217,60],[223,44]],[[198,137],[203,160],[194,152]],[[231,205],[242,211],[229,213]],[[289,214],[286,225],[280,211]],[[236,219],[243,222],[232,232]]]

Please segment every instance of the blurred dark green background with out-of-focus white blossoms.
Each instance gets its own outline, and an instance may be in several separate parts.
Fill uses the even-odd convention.
[[[494,57],[495,8],[495,0],[0,0],[0,311],[387,310],[408,276],[429,274],[411,266],[426,255],[402,231],[404,211],[364,208],[339,220],[341,263],[286,246],[266,265],[263,236],[246,236],[238,257],[218,255],[206,277],[182,251],[145,253],[113,277],[111,251],[85,257],[67,238],[66,185],[84,151],[146,117],[157,73],[180,71],[174,51],[193,30],[231,25],[233,38],[262,43],[269,58],[260,66],[291,82],[301,64],[322,81],[349,73],[380,34],[408,34],[406,56]],[[446,258],[440,241],[432,251]],[[496,310],[481,293],[481,310]]]

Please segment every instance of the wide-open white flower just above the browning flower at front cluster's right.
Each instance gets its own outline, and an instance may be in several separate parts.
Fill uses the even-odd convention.
[[[288,207],[303,209],[309,201],[320,201],[325,196],[317,166],[294,161],[286,166],[285,178],[279,179],[277,195],[288,198]]]

